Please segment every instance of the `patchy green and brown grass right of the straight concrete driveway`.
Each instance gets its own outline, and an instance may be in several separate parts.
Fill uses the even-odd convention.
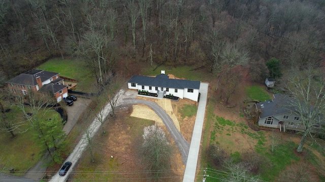
[[[252,100],[269,100],[270,95],[259,86],[247,86],[245,88],[246,96]],[[238,112],[237,120],[227,120],[215,114],[214,110],[218,102],[213,97],[209,98],[206,111],[205,120],[205,130],[203,132],[202,141],[202,160],[201,160],[201,170],[199,173],[203,175],[203,170],[207,169],[207,177],[209,181],[219,181],[225,179],[229,175],[229,171],[225,169],[222,165],[215,166],[209,160],[206,154],[206,149],[210,144],[215,144],[220,146],[232,158],[235,163],[245,160],[244,152],[251,151],[256,152],[261,159],[261,168],[259,169],[259,179],[265,181],[275,181],[279,179],[282,172],[290,166],[296,166],[297,163],[301,163],[302,159],[300,156],[295,154],[295,149],[298,145],[291,141],[288,136],[294,136],[293,134],[288,134],[281,136],[284,133],[275,133],[277,136],[281,136],[276,139],[277,146],[272,151],[272,132],[270,131],[254,131],[249,128],[245,121],[242,112]],[[237,114],[237,112],[229,110],[230,115]],[[218,112],[216,112],[218,113]],[[299,139],[299,136],[298,136]],[[310,145],[307,144],[307,146]],[[315,145],[314,145],[315,146]],[[319,151],[319,148],[315,148]],[[304,148],[305,154],[303,159],[307,159],[311,164],[314,164],[317,168],[319,160],[309,149]],[[319,152],[321,153],[321,152]],[[315,172],[314,172],[315,173]],[[251,174],[254,176],[256,174]],[[319,176],[323,179],[322,176]],[[200,181],[200,177],[198,177]]]

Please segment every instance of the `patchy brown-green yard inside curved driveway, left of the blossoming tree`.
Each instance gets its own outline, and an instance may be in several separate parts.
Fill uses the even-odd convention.
[[[118,124],[118,126],[116,125],[117,123],[121,122],[123,124]],[[89,179],[109,180],[125,178],[124,181],[126,181],[127,178],[132,179],[132,177],[137,178],[141,176],[141,173],[134,172],[134,174],[132,174],[132,172],[130,172],[140,170],[140,167],[131,169],[129,168],[130,166],[127,166],[125,164],[123,165],[123,161],[125,161],[125,159],[129,159],[128,161],[125,161],[127,163],[136,157],[135,155],[137,154],[135,151],[137,149],[135,149],[133,143],[136,142],[137,139],[141,138],[141,135],[143,134],[143,128],[149,125],[153,125],[153,122],[150,120],[130,116],[121,117],[116,121],[106,123],[106,129],[108,130],[108,128],[110,128],[108,133],[102,135],[99,132],[94,139],[94,143],[96,143],[94,145],[95,162],[91,162],[89,150],[86,150],[83,154],[83,157],[79,160],[76,169],[77,172],[74,174],[73,180],[88,181]],[[121,127],[125,129],[125,132],[120,131]],[[120,140],[120,138],[125,139],[123,144],[116,143]],[[129,143],[128,140],[131,140],[132,143]],[[114,145],[110,145],[110,142]],[[114,155],[116,152],[119,154]],[[113,155],[113,158],[111,158],[111,155]],[[123,158],[120,156],[123,156]],[[138,164],[133,163],[132,165],[138,166]],[[125,174],[122,174],[123,172]]]

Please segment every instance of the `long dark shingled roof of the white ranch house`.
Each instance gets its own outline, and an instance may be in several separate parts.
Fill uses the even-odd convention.
[[[200,89],[200,81],[169,79],[169,76],[165,74],[160,74],[157,75],[156,77],[134,75],[132,76],[131,79],[128,80],[128,82],[138,83],[139,85],[158,86],[158,87],[165,87],[165,88]]]

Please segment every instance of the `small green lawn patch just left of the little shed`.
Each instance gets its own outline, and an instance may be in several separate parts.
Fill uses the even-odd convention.
[[[245,88],[246,96],[252,100],[267,101],[271,100],[271,96],[266,92],[263,86],[247,86]]]

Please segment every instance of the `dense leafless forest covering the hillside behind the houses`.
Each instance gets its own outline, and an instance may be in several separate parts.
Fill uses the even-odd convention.
[[[264,78],[321,64],[322,0],[1,0],[2,82],[53,57],[86,61],[99,83],[133,62],[246,65]]]

